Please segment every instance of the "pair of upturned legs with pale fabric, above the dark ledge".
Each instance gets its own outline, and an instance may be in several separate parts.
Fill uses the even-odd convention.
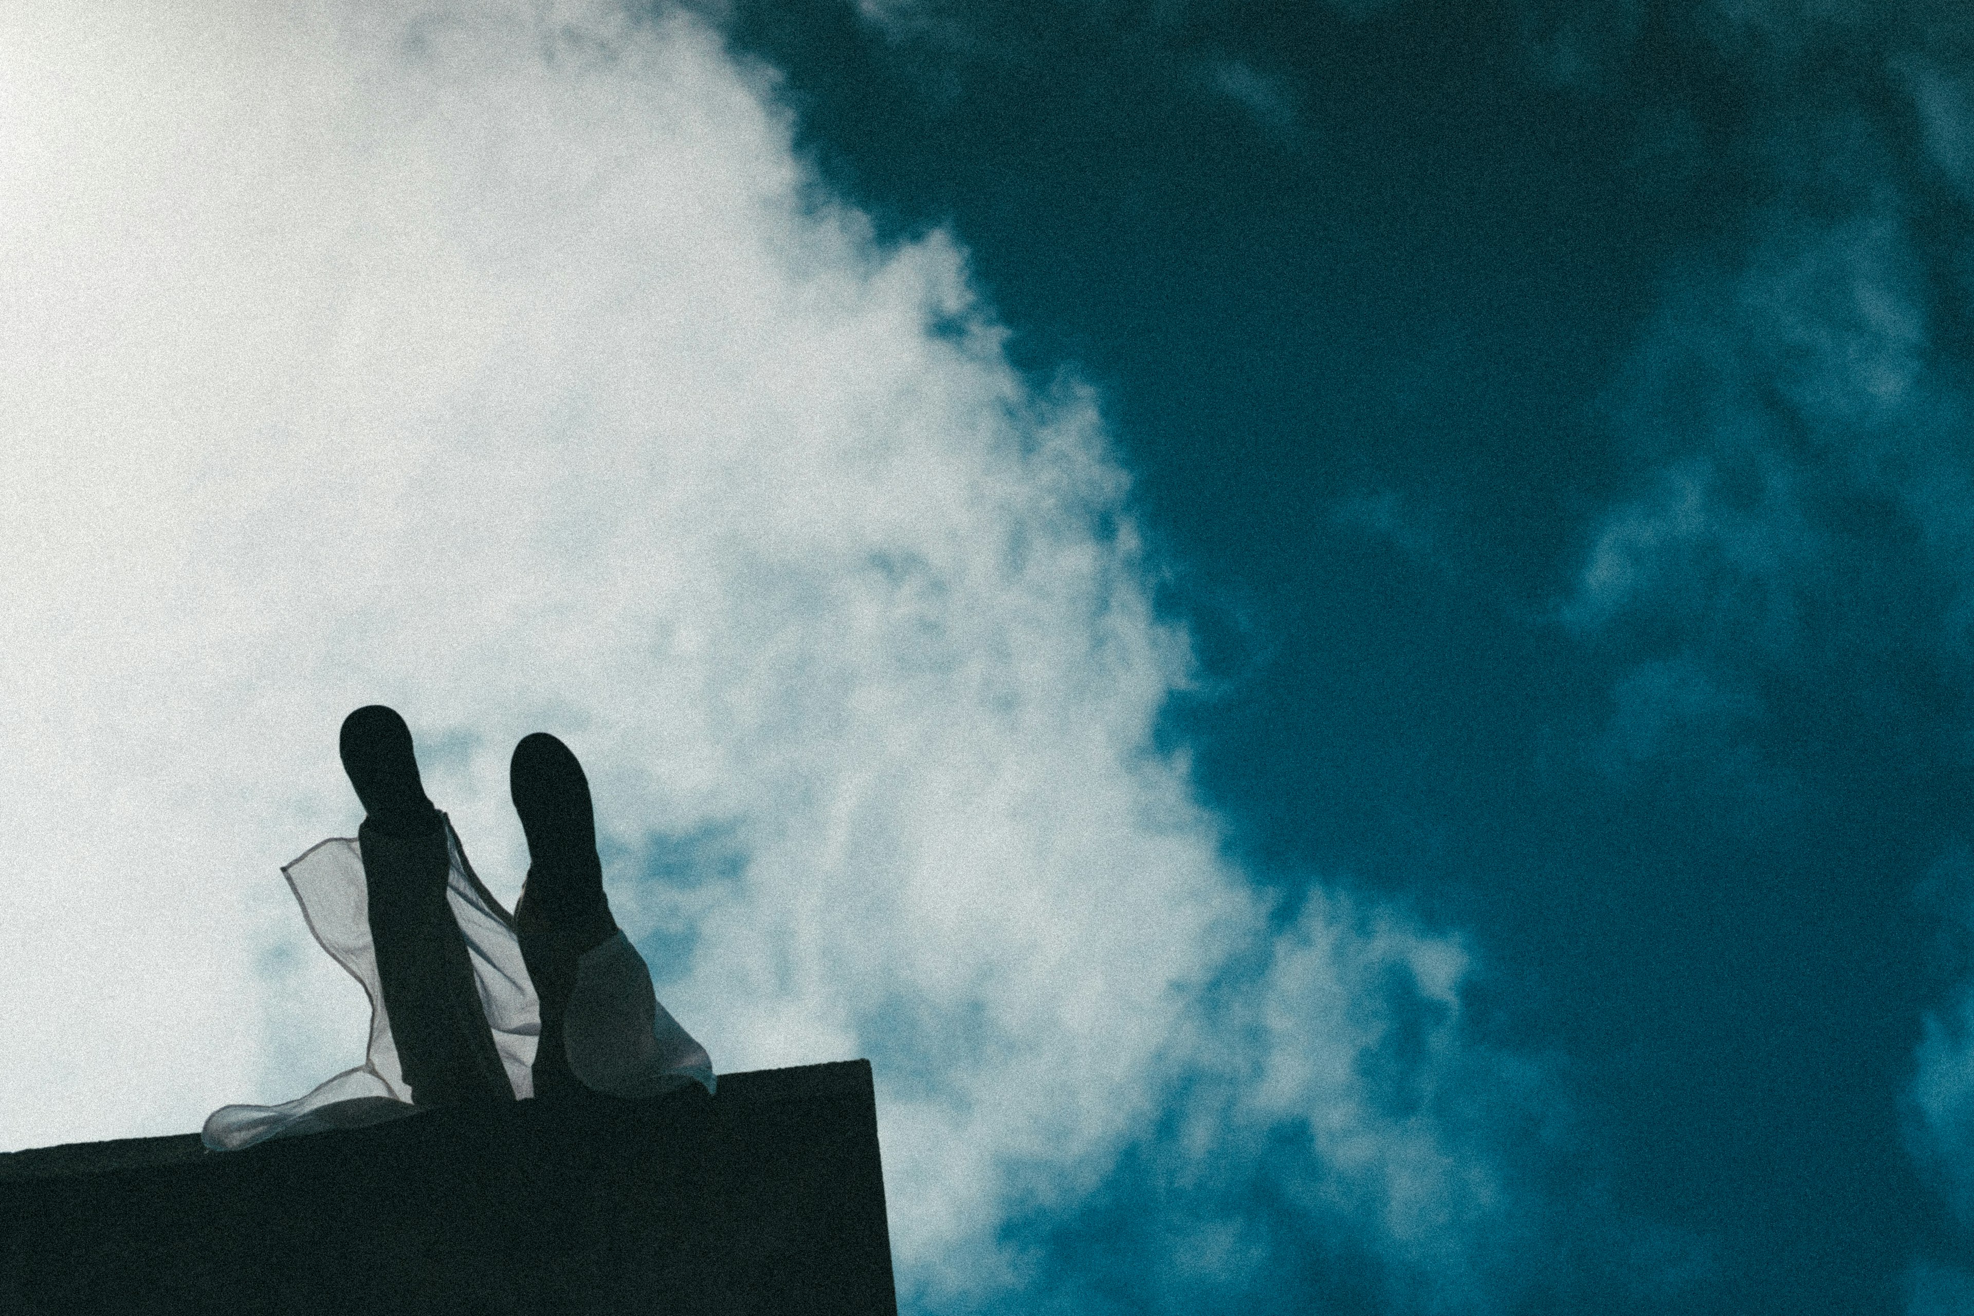
[[[395,710],[343,718],[357,837],[332,837],[282,876],[310,933],[371,1000],[363,1063],[280,1105],[225,1105],[211,1150],[357,1129],[430,1107],[531,1097],[644,1099],[719,1085],[713,1060],[659,1004],[649,965],[610,917],[582,766],[555,736],[515,746],[509,789],[529,842],[509,914],[424,793]]]

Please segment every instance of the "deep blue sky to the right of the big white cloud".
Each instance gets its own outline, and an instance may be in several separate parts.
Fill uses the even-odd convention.
[[[1706,1257],[1644,1306],[1964,1257],[1911,1083],[1966,973],[1966,18],[738,10],[825,176],[1101,381],[1230,848],[1469,931],[1473,1026]]]

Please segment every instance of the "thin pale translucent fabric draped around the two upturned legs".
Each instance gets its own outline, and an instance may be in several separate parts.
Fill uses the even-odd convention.
[[[521,961],[513,915],[480,884],[460,839],[446,821],[446,904],[466,937],[494,1048],[517,1099],[535,1095],[533,1063],[541,1006]],[[308,919],[308,931],[349,971],[371,1002],[363,1063],[282,1105],[225,1105],[199,1134],[213,1150],[239,1150],[266,1138],[351,1129],[411,1115],[411,1085],[391,1038],[377,953],[371,947],[363,852],[353,839],[324,841],[282,868]],[[651,973],[624,933],[590,949],[576,967],[563,1048],[569,1067],[592,1091],[610,1097],[655,1097],[685,1083],[715,1087],[713,1061],[657,1002]]]

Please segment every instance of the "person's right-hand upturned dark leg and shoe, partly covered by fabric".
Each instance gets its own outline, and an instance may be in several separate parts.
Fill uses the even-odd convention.
[[[535,732],[513,748],[507,775],[513,809],[527,833],[529,870],[515,908],[521,959],[541,998],[535,1095],[586,1091],[569,1069],[563,1020],[576,985],[576,961],[616,935],[596,856],[596,813],[582,766],[555,736]]]

